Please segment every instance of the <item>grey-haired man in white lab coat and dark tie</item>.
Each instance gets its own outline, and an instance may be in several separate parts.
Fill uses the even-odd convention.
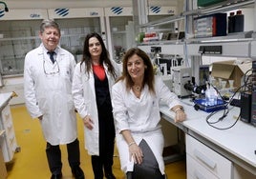
[[[42,22],[39,36],[41,45],[25,57],[26,106],[32,118],[39,119],[43,129],[51,178],[62,178],[59,145],[67,145],[72,172],[75,178],[83,179],[72,98],[75,57],[58,46],[60,29],[53,20]]]

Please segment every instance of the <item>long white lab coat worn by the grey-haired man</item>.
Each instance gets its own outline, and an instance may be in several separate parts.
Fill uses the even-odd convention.
[[[47,142],[69,144],[77,138],[75,106],[72,98],[72,79],[75,58],[57,47],[54,64],[41,44],[25,57],[24,93],[32,118],[43,115],[40,121]],[[50,74],[53,72],[52,74]]]

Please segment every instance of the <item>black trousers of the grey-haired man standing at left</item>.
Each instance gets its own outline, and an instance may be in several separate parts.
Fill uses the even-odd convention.
[[[80,150],[79,141],[76,138],[74,142],[67,144],[68,150],[68,161],[72,169],[79,167],[80,165]],[[59,145],[53,146],[50,143],[46,145],[46,155],[48,165],[53,174],[61,173],[62,162],[61,162],[61,151]]]

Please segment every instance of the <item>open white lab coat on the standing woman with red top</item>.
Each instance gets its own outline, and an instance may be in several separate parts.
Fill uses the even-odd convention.
[[[90,155],[99,155],[99,131],[98,131],[98,116],[96,107],[96,90],[95,90],[95,78],[93,70],[90,71],[89,76],[85,71],[85,64],[80,66],[79,62],[75,67],[74,79],[73,79],[73,98],[75,103],[75,109],[77,109],[80,117],[83,119],[86,115],[91,115],[94,121],[94,129],[87,129],[84,127],[85,149],[88,150]],[[109,90],[111,92],[112,86],[115,84],[116,79],[108,72],[106,65],[104,69],[109,82]],[[117,76],[120,74],[120,67],[116,62],[113,62],[113,66],[117,72]]]

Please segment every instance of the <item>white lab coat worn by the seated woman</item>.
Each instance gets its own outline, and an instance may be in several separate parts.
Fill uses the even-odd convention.
[[[153,151],[164,174],[162,149],[164,145],[160,128],[160,102],[171,109],[180,105],[176,94],[168,89],[160,76],[155,78],[156,95],[149,92],[148,86],[142,89],[140,98],[137,98],[132,89],[127,91],[123,81],[117,82],[112,88],[112,105],[117,129],[117,149],[120,157],[121,169],[126,173],[133,171],[134,161],[130,161],[129,147],[120,134],[120,131],[129,129],[135,142],[139,145],[144,139]]]

